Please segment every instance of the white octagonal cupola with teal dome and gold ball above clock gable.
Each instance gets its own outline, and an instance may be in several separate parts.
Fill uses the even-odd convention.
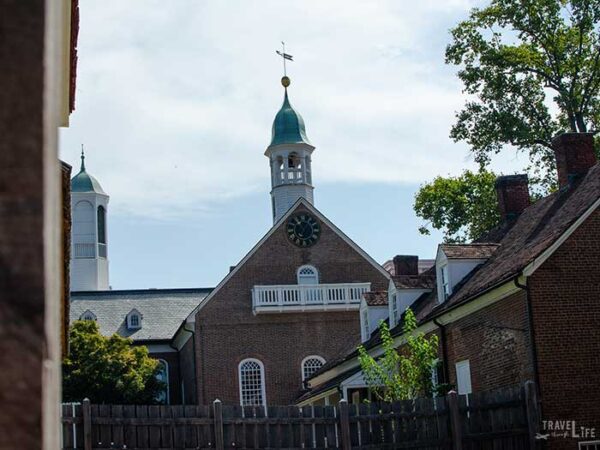
[[[283,105],[273,121],[271,144],[265,151],[271,164],[271,201],[273,223],[303,197],[313,203],[311,154],[315,147],[306,137],[304,120],[288,99],[290,79],[284,76]]]

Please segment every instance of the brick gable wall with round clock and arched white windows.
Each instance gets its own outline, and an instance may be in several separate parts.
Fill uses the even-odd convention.
[[[302,210],[302,206],[300,206]],[[321,283],[372,282],[386,277],[322,224],[309,248],[289,242],[285,225],[256,251],[196,317],[199,402],[239,403],[238,364],[258,358],[265,366],[269,404],[290,404],[302,387],[300,365],[308,355],[339,357],[360,340],[358,311],[252,313],[254,285],[296,284],[296,270],[312,264]]]

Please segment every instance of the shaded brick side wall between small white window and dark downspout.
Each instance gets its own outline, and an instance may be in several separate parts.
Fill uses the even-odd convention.
[[[450,383],[456,385],[455,364],[465,359],[473,391],[533,379],[525,306],[520,291],[446,327]]]

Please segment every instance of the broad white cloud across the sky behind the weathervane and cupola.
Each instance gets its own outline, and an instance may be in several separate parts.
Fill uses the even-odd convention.
[[[448,131],[463,98],[443,51],[470,6],[84,0],[62,157],[77,161],[85,143],[113,211],[129,214],[179,216],[268,190],[262,153],[282,101],[274,51],[285,39],[317,185],[457,173],[468,152]]]

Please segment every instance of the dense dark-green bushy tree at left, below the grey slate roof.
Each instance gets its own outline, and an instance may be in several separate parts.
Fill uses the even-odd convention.
[[[93,403],[156,403],[164,383],[160,366],[146,347],[131,345],[117,334],[105,337],[93,320],[80,320],[69,330],[69,355],[63,361],[64,401],[89,398]]]

